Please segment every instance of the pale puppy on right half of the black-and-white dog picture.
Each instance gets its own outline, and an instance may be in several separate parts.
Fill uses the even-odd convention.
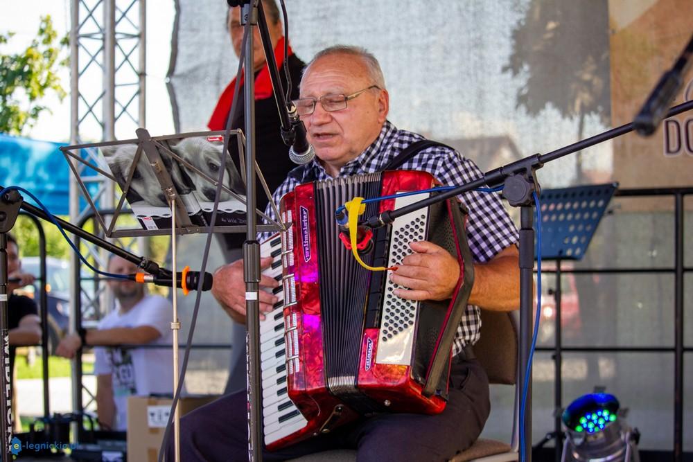
[[[171,147],[181,159],[195,167],[208,178],[216,181],[219,178],[219,169],[222,163],[223,145],[207,141],[203,137],[185,138]],[[208,178],[200,175],[199,172],[181,164],[182,170],[190,178],[190,186],[199,202],[213,202],[216,195],[216,186]],[[234,191],[241,193],[244,190],[243,180],[238,174],[238,170],[230,158],[226,161],[226,168],[222,184]],[[221,190],[219,200],[225,202],[233,200],[234,197]]]

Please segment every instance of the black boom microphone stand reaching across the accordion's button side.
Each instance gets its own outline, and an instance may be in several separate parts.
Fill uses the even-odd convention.
[[[693,109],[693,101],[688,101],[678,106],[669,109],[666,117],[672,117],[676,114]],[[635,129],[633,122],[621,125],[612,130],[608,130],[602,134],[591,136],[588,139],[578,141],[571,145],[565,146],[558,150],[547,154],[534,154],[527,156],[518,161],[507,164],[486,172],[484,176],[475,181],[471,181],[463,186],[454,188],[439,195],[423,199],[419,202],[414,202],[408,206],[398,208],[396,210],[385,211],[379,215],[370,217],[365,226],[371,229],[385,226],[394,222],[394,220],[402,215],[419,210],[420,208],[428,207],[437,202],[442,202],[450,197],[455,197],[467,191],[483,186],[491,188],[503,185],[503,195],[505,195],[511,206],[520,207],[520,387],[525,383],[525,376],[529,375],[527,382],[527,401],[525,408],[524,420],[524,460],[529,462],[532,460],[532,370],[527,371],[527,363],[529,362],[529,353],[532,346],[532,298],[533,298],[533,271],[534,271],[534,216],[532,194],[539,193],[539,184],[536,181],[534,172],[543,167],[545,163],[554,161],[568,154],[584,150],[590,146],[602,143],[609,139],[613,139],[622,134],[626,134]],[[541,223],[539,224],[541,226]],[[520,391],[520,396],[523,391]]]

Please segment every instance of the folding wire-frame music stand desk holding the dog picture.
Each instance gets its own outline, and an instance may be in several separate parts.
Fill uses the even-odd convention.
[[[200,166],[195,165],[191,160],[193,157],[201,157],[203,154],[198,150],[204,148],[214,148],[214,158],[222,156],[221,143],[223,143],[224,131],[213,132],[189,132],[172,134],[166,136],[150,136],[144,128],[137,129],[137,139],[122,141],[108,141],[102,143],[87,143],[80,145],[61,146],[60,151],[67,160],[73,174],[75,175],[82,195],[91,206],[96,220],[108,238],[139,237],[139,236],[161,236],[175,229],[176,234],[204,233],[210,231],[218,232],[245,232],[245,220],[240,217],[245,216],[246,198],[239,186],[245,188],[245,161],[243,159],[243,143],[245,136],[241,130],[231,130],[230,135],[235,138],[240,158],[240,177],[228,152],[226,153],[226,165],[231,166],[229,184],[222,184],[222,194],[227,195],[229,201],[236,204],[236,209],[223,210],[220,207],[220,217],[216,223],[209,222],[211,215],[211,202],[207,202],[207,207],[202,206],[203,202],[198,202],[202,188],[216,189],[216,172],[200,170]],[[186,141],[186,148],[177,148]],[[95,151],[98,154],[95,155]],[[85,155],[85,152],[89,153]],[[186,154],[189,152],[190,154]],[[210,155],[210,154],[207,154]],[[94,170],[96,175],[101,175],[118,184],[122,191],[118,204],[112,215],[109,224],[105,222],[103,216],[98,211],[95,198],[80,177],[75,162],[82,163],[87,168]],[[262,172],[255,163],[254,170],[261,181],[270,204],[274,207],[274,212],[279,216],[277,205],[272,201],[272,195],[267,186]],[[135,184],[138,184],[136,187]],[[236,187],[234,187],[236,186]],[[138,189],[139,188],[139,189]],[[148,195],[143,193],[143,189],[148,190]],[[147,197],[150,196],[150,197]],[[206,199],[202,197],[202,199]],[[175,204],[175,226],[170,222],[172,211],[168,202]],[[123,206],[128,202],[132,212],[138,218],[141,229],[115,229],[116,222],[121,216]],[[240,210],[243,207],[243,210]],[[258,231],[277,231],[283,229],[283,224],[279,224],[265,215],[263,211],[256,209],[259,215],[270,224],[258,225]]]

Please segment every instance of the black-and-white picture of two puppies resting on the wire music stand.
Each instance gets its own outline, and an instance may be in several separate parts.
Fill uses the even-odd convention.
[[[183,199],[188,213],[211,212],[216,196],[215,182],[222,168],[223,143],[209,141],[206,136],[192,136],[181,139],[159,141],[166,145],[179,159],[159,148],[159,155],[166,166],[179,196]],[[125,190],[135,156],[137,144],[102,146],[101,153],[109,166],[116,183]],[[227,157],[222,184],[245,199],[245,184],[238,173],[234,161]],[[166,196],[148,158],[141,152],[137,168],[126,196],[134,213],[138,216],[170,217]],[[220,191],[219,210],[227,213],[244,211],[245,205],[234,195]]]

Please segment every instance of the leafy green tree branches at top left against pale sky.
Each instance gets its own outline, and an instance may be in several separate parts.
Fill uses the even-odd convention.
[[[0,46],[7,44],[14,33],[0,34]],[[0,53],[0,132],[26,134],[39,115],[50,109],[40,100],[53,92],[60,100],[66,95],[60,86],[58,70],[67,66],[60,60],[67,35],[58,41],[50,15],[41,18],[37,37],[22,53]]]

